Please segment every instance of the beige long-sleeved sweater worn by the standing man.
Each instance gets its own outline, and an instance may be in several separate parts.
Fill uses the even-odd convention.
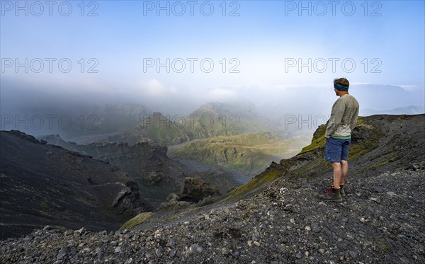
[[[332,106],[331,117],[327,122],[325,137],[351,137],[351,130],[356,127],[358,102],[356,98],[345,94]]]

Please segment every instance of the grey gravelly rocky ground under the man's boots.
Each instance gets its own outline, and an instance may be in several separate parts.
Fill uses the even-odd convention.
[[[278,178],[237,202],[115,232],[46,226],[0,241],[0,263],[425,263],[425,166],[352,177]]]

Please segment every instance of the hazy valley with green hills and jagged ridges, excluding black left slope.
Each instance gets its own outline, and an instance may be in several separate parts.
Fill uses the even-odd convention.
[[[210,102],[189,115],[149,111],[142,105],[96,105],[89,113],[99,115],[98,132],[123,131],[38,138],[118,166],[140,185],[141,197],[158,207],[169,193],[179,193],[183,178],[193,175],[225,194],[272,161],[294,156],[311,137],[308,132],[289,137],[291,130],[282,125],[274,130],[271,120],[246,102]]]

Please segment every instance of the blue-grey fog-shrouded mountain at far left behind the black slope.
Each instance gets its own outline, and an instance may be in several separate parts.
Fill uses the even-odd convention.
[[[152,113],[144,105],[135,103],[67,102],[62,105],[54,100],[38,103],[38,107],[30,103],[19,109],[4,109],[1,105],[1,130],[20,130],[35,136],[61,134],[73,142],[96,142],[130,130]]]

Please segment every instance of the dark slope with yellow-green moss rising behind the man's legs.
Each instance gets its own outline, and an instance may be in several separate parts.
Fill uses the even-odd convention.
[[[351,133],[350,178],[373,177],[385,171],[404,170],[424,157],[425,115],[373,115],[359,117]],[[290,159],[272,163],[249,183],[229,194],[241,197],[261,190],[276,178],[316,178],[329,176],[331,166],[324,160],[326,125],[314,132],[311,144]]]

